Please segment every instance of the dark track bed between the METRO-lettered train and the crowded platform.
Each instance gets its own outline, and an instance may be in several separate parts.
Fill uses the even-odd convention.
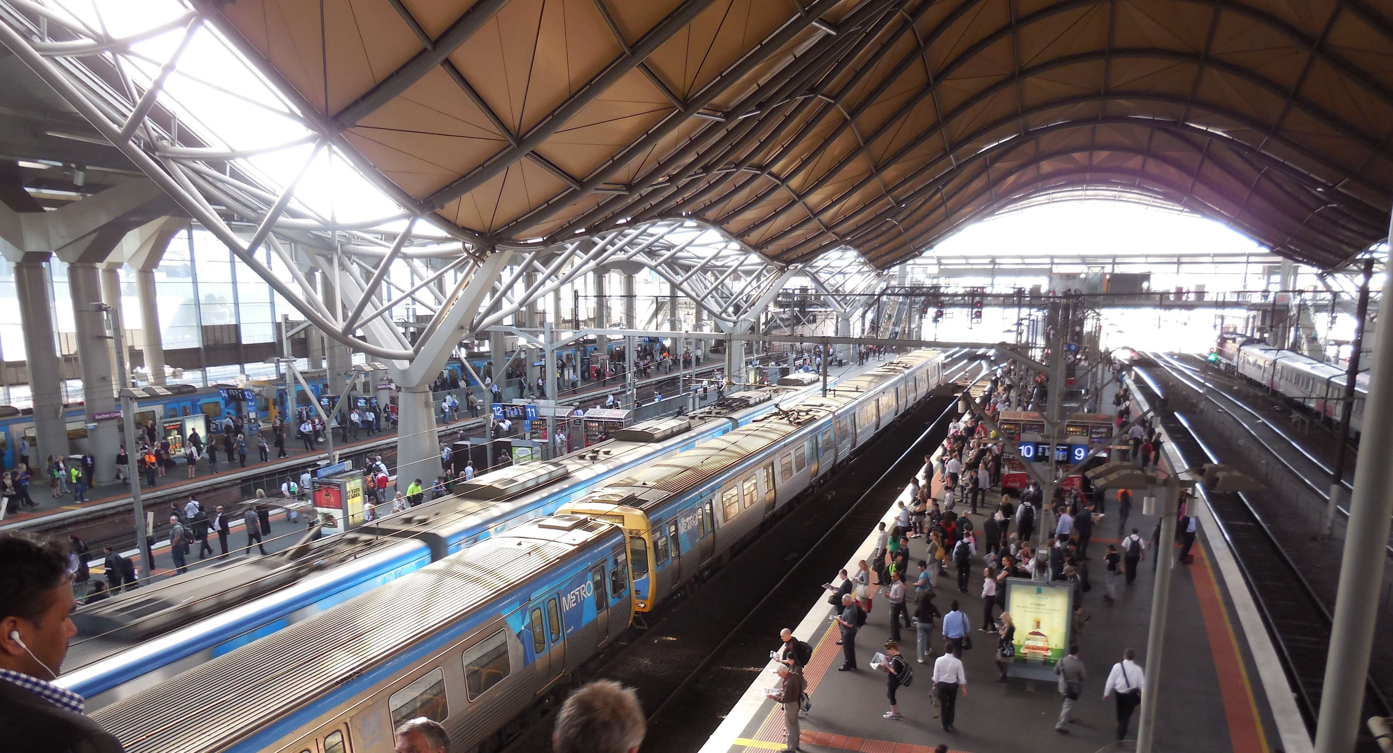
[[[956,371],[972,371],[967,381],[985,372],[974,364]],[[822,583],[880,520],[953,414],[951,395],[925,400],[651,629],[602,660],[592,676],[637,687],[652,710],[645,750],[692,753],[702,746],[765,668],[779,630],[795,626],[823,595]],[[506,753],[550,750],[550,718],[539,721]]]

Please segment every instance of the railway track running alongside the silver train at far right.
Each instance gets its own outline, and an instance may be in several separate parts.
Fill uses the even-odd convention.
[[[1319,498],[1322,506],[1329,503],[1329,480],[1332,473],[1330,463],[1318,457],[1280,427],[1273,425],[1273,423],[1263,417],[1256,409],[1238,397],[1234,397],[1220,385],[1205,379],[1204,375],[1194,367],[1162,353],[1148,353],[1148,356],[1151,356],[1156,363],[1156,367],[1169,374],[1172,379],[1199,396],[1198,399],[1201,402],[1208,400],[1220,411],[1231,417],[1234,423],[1248,435],[1248,438],[1262,446],[1268,455],[1270,455],[1277,464],[1286,469],[1286,471],[1307,491]],[[1348,481],[1350,477],[1353,477],[1353,470],[1340,481],[1346,494],[1354,491],[1354,485]],[[1336,505],[1334,509],[1340,517],[1350,517],[1350,510],[1346,505]],[[1393,555],[1393,541],[1389,542],[1387,552],[1389,555]]]

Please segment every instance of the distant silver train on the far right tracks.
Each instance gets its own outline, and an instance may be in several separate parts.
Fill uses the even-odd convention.
[[[1343,368],[1236,335],[1220,336],[1213,356],[1224,371],[1283,395],[1302,410],[1332,424],[1340,421],[1348,383]],[[1354,376],[1354,407],[1350,413],[1350,436],[1354,439],[1364,431],[1364,402],[1368,396],[1369,375],[1361,371]]]

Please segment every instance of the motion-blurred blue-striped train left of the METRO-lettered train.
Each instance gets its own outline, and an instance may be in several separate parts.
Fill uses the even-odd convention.
[[[618,474],[795,406],[819,389],[820,383],[790,379],[736,392],[688,417],[646,421],[582,452],[481,474],[457,485],[451,496],[345,535],[266,558],[221,561],[192,577],[86,607],[74,615],[78,640],[59,682],[85,696],[89,708],[114,703],[489,535],[553,513]]]

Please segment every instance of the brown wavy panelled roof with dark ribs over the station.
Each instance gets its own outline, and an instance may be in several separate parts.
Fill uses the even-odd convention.
[[[235,0],[217,25],[364,170],[483,243],[699,216],[889,266],[1102,187],[1318,266],[1387,234],[1367,0]]]

